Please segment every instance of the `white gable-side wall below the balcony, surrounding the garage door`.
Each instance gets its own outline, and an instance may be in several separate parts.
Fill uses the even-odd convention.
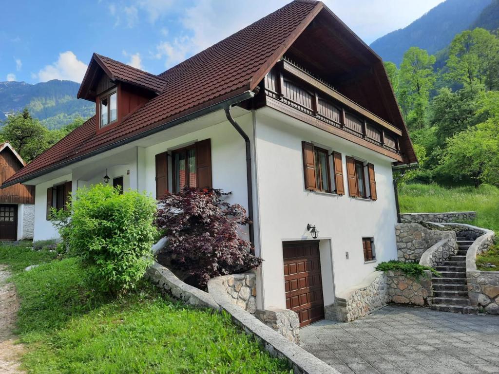
[[[334,301],[335,290],[355,285],[377,262],[397,258],[392,160],[269,108],[256,112],[255,135],[265,308],[285,307],[282,242],[311,239],[307,223],[316,225],[321,239],[325,305]],[[345,195],[305,190],[302,141],[342,154]],[[348,196],[345,156],[374,164],[376,201]],[[362,237],[367,236],[374,237],[377,262],[364,263]]]

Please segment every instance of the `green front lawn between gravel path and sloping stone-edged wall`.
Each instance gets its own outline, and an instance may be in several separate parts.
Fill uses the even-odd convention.
[[[17,333],[29,373],[289,373],[228,315],[190,308],[145,281],[109,300],[75,259],[54,255],[0,245],[21,300]]]

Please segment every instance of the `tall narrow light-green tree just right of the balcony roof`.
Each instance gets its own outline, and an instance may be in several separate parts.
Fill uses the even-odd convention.
[[[418,47],[404,53],[398,74],[399,103],[405,120],[411,128],[422,128],[424,112],[428,105],[430,90],[435,82],[433,64],[435,56]]]

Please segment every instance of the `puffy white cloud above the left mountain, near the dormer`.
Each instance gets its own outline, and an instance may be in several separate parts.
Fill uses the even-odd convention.
[[[52,79],[65,79],[81,82],[87,65],[78,60],[71,51],[59,53],[59,58],[51,65],[46,65],[36,74],[40,82]]]

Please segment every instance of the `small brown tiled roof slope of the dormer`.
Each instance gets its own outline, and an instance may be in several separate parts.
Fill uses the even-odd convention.
[[[106,73],[111,79],[141,86],[157,93],[163,92],[166,81],[161,77],[97,53],[94,55],[105,66],[107,69]]]

